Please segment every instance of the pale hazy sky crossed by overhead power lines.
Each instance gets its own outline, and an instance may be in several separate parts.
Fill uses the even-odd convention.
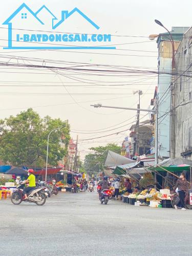
[[[23,3],[24,0],[7,0],[0,10],[1,24]],[[46,5],[57,17],[54,24],[61,19],[61,11],[76,7],[100,27],[97,30],[75,13],[54,33],[112,35],[111,42],[53,42],[45,46],[116,46],[116,49],[3,49],[8,45],[8,26],[1,25],[0,62],[8,65],[0,68],[0,118],[33,108],[41,117],[68,119],[71,137],[79,136],[81,159],[90,152],[90,147],[109,142],[121,145],[130,134],[129,130],[124,130],[136,120],[136,111],[94,109],[90,104],[136,108],[138,94],[134,91],[142,90],[140,106],[148,108],[157,86],[157,74],[137,72],[133,75],[127,69],[157,70],[156,40],[149,40],[148,35],[162,33],[164,29],[154,19],[159,19],[169,30],[172,26],[190,27],[192,2],[184,0],[181,5],[179,0],[26,0],[25,4],[33,12]],[[52,31],[50,13],[44,9],[39,18],[44,20],[43,26],[30,17],[26,20],[15,17],[12,22],[14,38],[16,34]],[[13,41],[13,44],[19,46],[20,42]],[[28,44],[34,45],[39,46]],[[38,67],[26,67],[29,65]],[[141,113],[140,117],[141,121],[148,119],[146,113]],[[108,136],[110,134],[113,135]]]

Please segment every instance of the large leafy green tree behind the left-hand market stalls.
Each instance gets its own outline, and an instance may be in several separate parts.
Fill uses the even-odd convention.
[[[57,165],[67,155],[70,126],[59,118],[40,118],[32,109],[0,120],[0,158],[13,165],[42,167],[48,134],[57,127],[63,128],[53,132],[49,140],[49,164]]]

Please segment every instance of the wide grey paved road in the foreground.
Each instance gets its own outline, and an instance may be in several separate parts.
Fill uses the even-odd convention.
[[[0,255],[191,255],[192,210],[101,205],[97,193],[44,206],[0,200]]]

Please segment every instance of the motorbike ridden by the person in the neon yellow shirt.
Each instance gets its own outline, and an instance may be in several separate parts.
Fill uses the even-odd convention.
[[[11,202],[15,205],[18,205],[25,202],[35,203],[37,205],[44,205],[46,202],[46,195],[44,193],[43,187],[35,187],[33,190],[29,191],[27,194],[28,199],[25,199],[24,195],[24,186],[25,184],[19,184],[15,191],[11,195]]]

